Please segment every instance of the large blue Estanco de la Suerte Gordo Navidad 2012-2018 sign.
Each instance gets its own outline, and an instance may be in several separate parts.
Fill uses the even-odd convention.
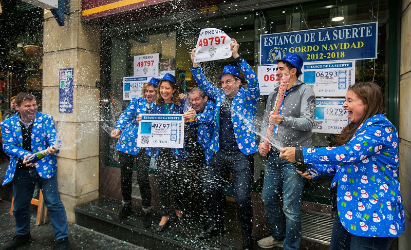
[[[260,65],[276,64],[287,53],[304,62],[377,58],[378,22],[260,36]]]

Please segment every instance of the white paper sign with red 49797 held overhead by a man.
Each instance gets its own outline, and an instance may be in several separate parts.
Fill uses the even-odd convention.
[[[230,44],[231,38],[224,31],[215,28],[202,29],[198,36],[194,62],[227,59],[233,53]]]

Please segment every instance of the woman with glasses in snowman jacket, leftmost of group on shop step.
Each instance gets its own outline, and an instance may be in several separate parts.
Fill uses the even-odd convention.
[[[116,129],[111,131],[111,138],[119,139],[116,149],[119,151],[121,165],[121,194],[123,207],[119,218],[124,219],[132,214],[132,177],[133,165],[137,159],[137,182],[140,187],[142,206],[144,211],[144,226],[149,227],[151,220],[151,188],[148,181],[148,166],[150,156],[148,149],[140,150],[137,147],[138,122],[136,118],[141,113],[147,113],[147,109],[156,98],[158,79],[152,78],[150,82],[143,85],[141,98],[133,98],[128,107],[120,115]],[[120,135],[121,133],[121,135]]]

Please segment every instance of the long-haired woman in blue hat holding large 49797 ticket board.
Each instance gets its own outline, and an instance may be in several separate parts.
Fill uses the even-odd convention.
[[[178,94],[176,78],[174,75],[166,73],[160,79],[156,101],[150,105],[147,113],[156,114],[182,114],[184,101],[183,96]],[[184,96],[185,97],[185,96]],[[137,122],[141,116],[137,117]],[[171,128],[174,130],[173,128]],[[173,134],[172,134],[173,135]],[[177,136],[177,134],[176,134]],[[184,145],[186,140],[184,140]],[[182,220],[182,193],[185,189],[182,175],[183,160],[188,158],[188,152],[183,148],[151,148],[150,155],[156,157],[158,170],[158,195],[160,199],[161,221],[155,227],[156,232],[162,232],[169,225],[171,210],[171,186],[174,187],[174,208],[179,221]]]

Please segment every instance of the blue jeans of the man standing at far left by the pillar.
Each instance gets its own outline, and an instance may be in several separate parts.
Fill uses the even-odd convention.
[[[68,236],[67,217],[60,200],[57,177],[41,178],[35,169],[16,169],[13,178],[13,215],[16,220],[17,235],[30,233],[30,202],[33,197],[34,183],[42,189],[44,204],[53,225],[55,239]]]

